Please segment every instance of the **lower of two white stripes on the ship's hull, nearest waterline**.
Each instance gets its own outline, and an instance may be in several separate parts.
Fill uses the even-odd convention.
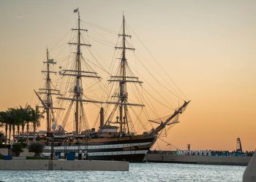
[[[108,152],[94,152],[89,153],[89,156],[113,156],[113,155],[129,155],[129,154],[146,154],[147,150],[141,151],[108,151]],[[42,153],[44,156],[50,156],[50,153]],[[78,153],[75,153],[75,156],[78,157]],[[64,157],[64,153],[61,153],[61,157]]]

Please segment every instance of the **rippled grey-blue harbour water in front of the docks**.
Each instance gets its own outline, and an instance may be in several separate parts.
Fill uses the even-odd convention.
[[[129,164],[127,172],[1,171],[0,181],[242,181],[246,167],[170,163]]]

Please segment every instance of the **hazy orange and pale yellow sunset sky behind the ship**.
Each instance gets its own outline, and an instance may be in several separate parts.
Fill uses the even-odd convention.
[[[165,141],[178,149],[190,143],[192,150],[235,150],[239,137],[244,150],[255,149],[256,1],[0,0],[0,111],[37,103],[34,89],[42,83],[45,48],[72,28],[76,7],[82,20],[113,31],[119,30],[124,12],[132,30],[192,100]],[[106,39],[115,44],[116,38]],[[135,43],[136,51],[141,48],[146,55]],[[110,65],[114,49],[97,44],[94,49],[102,64]],[[148,82],[154,86],[151,77]],[[159,146],[169,149],[161,141]]]

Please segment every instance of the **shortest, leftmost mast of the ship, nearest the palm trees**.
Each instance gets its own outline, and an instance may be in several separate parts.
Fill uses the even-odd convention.
[[[51,87],[51,79],[50,74],[56,74],[56,71],[50,71],[50,64],[56,64],[53,59],[49,59],[49,52],[46,49],[46,58],[47,60],[43,63],[46,64],[46,70],[42,71],[45,74],[45,87],[40,88],[39,92],[36,92],[37,97],[39,98],[42,106],[41,108],[45,108],[46,111],[46,119],[47,119],[47,132],[51,131],[52,121],[54,121],[55,117],[53,114],[53,109],[63,109],[63,108],[53,108],[53,98],[52,95],[61,95],[59,90],[52,89]],[[43,98],[40,95],[45,95]],[[45,100],[44,100],[45,98]]]

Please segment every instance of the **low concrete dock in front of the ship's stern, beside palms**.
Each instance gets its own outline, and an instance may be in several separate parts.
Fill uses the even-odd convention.
[[[0,170],[106,170],[128,171],[129,162],[87,160],[0,160]]]

